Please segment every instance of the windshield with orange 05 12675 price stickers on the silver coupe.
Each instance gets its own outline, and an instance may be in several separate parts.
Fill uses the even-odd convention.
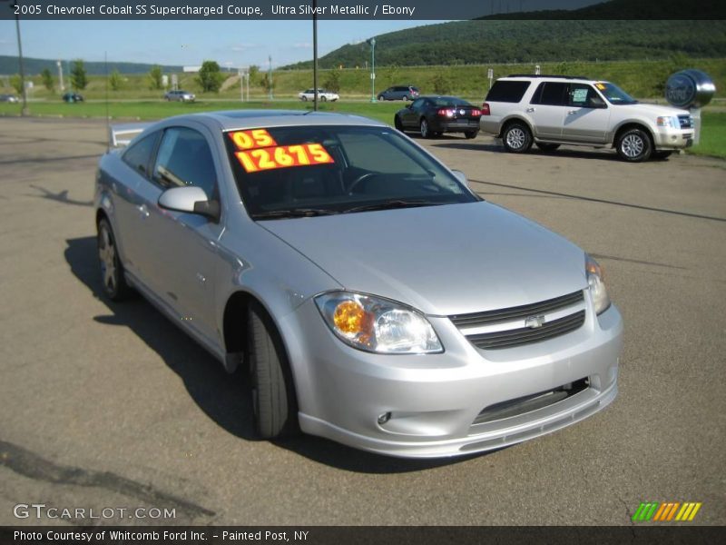
[[[387,127],[295,126],[226,134],[254,219],[472,203],[466,186]]]

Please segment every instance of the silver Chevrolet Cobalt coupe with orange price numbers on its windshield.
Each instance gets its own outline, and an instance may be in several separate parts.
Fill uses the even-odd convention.
[[[616,396],[623,323],[600,266],[388,125],[172,117],[104,154],[96,180],[104,291],[135,288],[249,372],[263,438],[455,456]]]

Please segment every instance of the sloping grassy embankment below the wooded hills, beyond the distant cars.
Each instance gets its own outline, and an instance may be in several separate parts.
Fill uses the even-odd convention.
[[[726,89],[726,59],[691,59],[680,61],[608,61],[599,63],[550,63],[542,64],[543,74],[587,75],[596,79],[613,81],[628,93],[640,98],[662,98],[663,85],[670,74],[682,68],[698,68],[713,78],[716,88]],[[390,85],[414,84],[424,94],[451,93],[481,101],[489,88],[487,70],[494,70],[495,78],[507,74],[534,74],[533,64],[467,64],[456,66],[382,66],[376,71],[376,92]],[[331,70],[319,70],[319,86],[326,86]],[[343,98],[370,97],[370,73],[365,67],[338,70],[340,95]],[[228,81],[219,94],[202,94],[195,74],[178,74],[180,88],[197,94],[200,100],[219,98],[235,100],[240,98],[240,79],[235,73],[225,73]],[[250,95],[264,100],[266,92],[261,86],[263,72],[250,80]],[[57,92],[47,91],[40,76],[31,77],[34,83],[32,98],[38,100],[59,100]],[[312,87],[311,70],[274,71],[275,98],[292,99]],[[163,91],[149,88],[147,74],[123,75],[118,91],[109,91],[112,101],[123,99],[160,99]],[[443,85],[444,90],[438,85]],[[15,93],[7,87],[7,78],[0,78],[0,93]],[[103,76],[89,76],[89,84],[82,92],[86,99],[103,99],[106,84]]]

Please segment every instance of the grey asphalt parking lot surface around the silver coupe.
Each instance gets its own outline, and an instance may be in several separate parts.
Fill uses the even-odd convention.
[[[142,299],[101,295],[103,123],[0,118],[0,524],[81,521],[13,514],[45,503],[175,509],[121,520],[142,524],[626,525],[641,501],[726,524],[726,162],[418,142],[604,265],[625,322],[611,407],[454,461],[255,441],[239,381]]]

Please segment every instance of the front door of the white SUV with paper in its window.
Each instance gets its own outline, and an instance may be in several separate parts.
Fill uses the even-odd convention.
[[[591,84],[570,84],[563,120],[564,140],[604,144],[611,109]]]

